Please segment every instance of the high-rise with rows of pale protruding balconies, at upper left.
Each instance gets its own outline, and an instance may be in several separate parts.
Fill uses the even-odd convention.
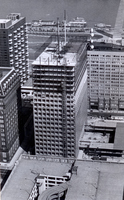
[[[12,13],[0,19],[0,66],[14,67],[20,75],[21,85],[28,78],[28,46],[26,19]]]

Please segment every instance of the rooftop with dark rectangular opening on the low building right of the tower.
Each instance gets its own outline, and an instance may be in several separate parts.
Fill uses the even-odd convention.
[[[124,119],[88,118],[79,147],[92,149],[124,150]]]

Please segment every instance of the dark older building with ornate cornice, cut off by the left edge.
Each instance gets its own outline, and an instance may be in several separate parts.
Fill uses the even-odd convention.
[[[0,162],[9,162],[19,147],[19,93],[15,69],[0,67]]]

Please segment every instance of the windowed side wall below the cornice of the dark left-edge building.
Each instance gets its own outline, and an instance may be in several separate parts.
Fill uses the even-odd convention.
[[[10,161],[19,147],[17,85],[4,98],[4,105],[6,152]]]

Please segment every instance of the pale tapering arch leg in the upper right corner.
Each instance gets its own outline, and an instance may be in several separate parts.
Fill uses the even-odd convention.
[[[115,21],[115,27],[113,31],[113,39],[122,38],[123,23],[124,23],[124,0],[120,0],[118,13]]]

